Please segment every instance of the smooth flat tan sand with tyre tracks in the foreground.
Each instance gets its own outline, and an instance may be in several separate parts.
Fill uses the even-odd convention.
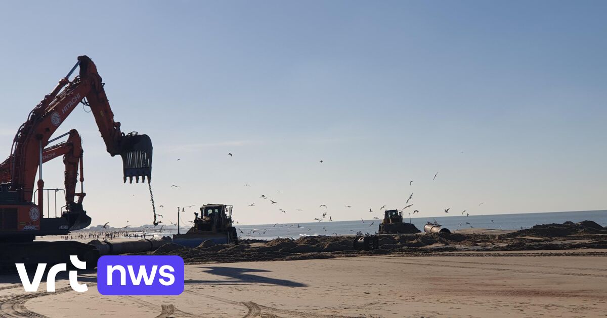
[[[603,251],[186,265],[170,297],[102,296],[94,273],[86,293],[64,276],[57,293],[26,294],[5,275],[0,317],[606,317]]]

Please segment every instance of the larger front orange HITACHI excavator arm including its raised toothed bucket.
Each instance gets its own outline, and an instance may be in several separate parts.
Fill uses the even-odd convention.
[[[80,74],[69,81],[76,67],[80,67]],[[107,152],[112,156],[120,154],[122,157],[123,181],[126,182],[127,177],[130,182],[133,177],[137,182],[139,177],[142,181],[145,181],[146,177],[148,182],[151,180],[151,139],[145,134],[122,133],[120,122],[114,121],[114,113],[107,100],[101,76],[97,73],[97,67],[89,57],[78,56],[78,62],[68,75],[32,110],[27,121],[19,128],[13,140],[12,156],[5,161],[10,173],[0,171],[0,181],[10,183],[11,190],[19,192],[22,202],[32,200],[36,173],[39,174],[38,188],[44,186],[42,151],[49,144],[50,136],[80,102],[89,105]],[[6,180],[8,176],[10,181]]]

